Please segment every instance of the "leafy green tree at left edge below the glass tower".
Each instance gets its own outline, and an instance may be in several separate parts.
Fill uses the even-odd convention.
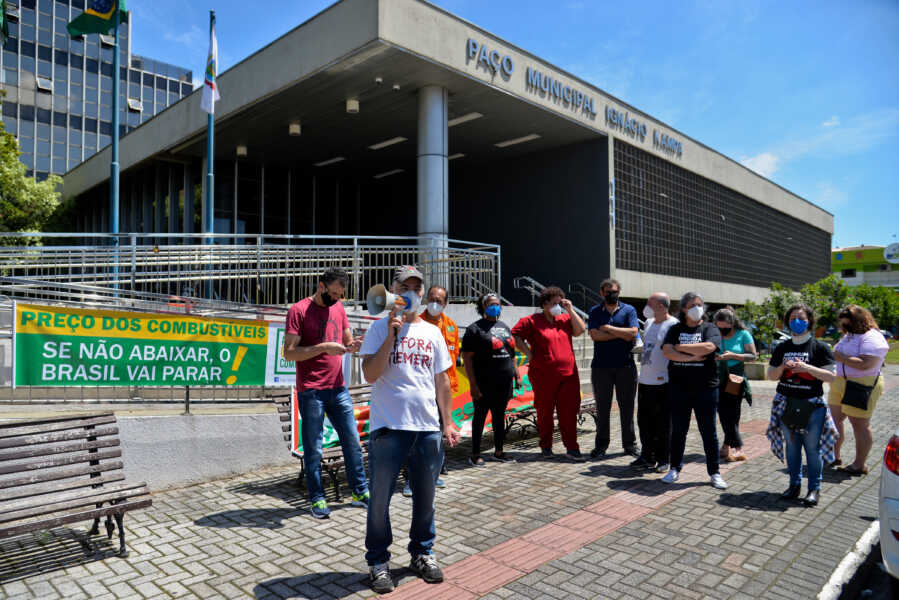
[[[0,235],[11,231],[44,231],[59,207],[62,179],[37,181],[25,175],[19,142],[0,122]],[[25,245],[37,238],[0,237],[5,245]]]

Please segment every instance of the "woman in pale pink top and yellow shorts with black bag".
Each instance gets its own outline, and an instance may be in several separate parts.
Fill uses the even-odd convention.
[[[843,419],[849,417],[855,434],[855,460],[843,470],[850,475],[864,475],[868,472],[865,460],[874,445],[871,415],[883,394],[880,369],[890,345],[880,333],[874,317],[861,306],[850,304],[840,311],[838,317],[845,335],[833,349],[837,377],[830,385],[827,399],[837,431],[840,432],[834,447],[834,464],[842,462]]]

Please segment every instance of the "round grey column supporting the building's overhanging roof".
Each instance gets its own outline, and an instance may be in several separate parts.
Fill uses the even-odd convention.
[[[419,260],[428,278],[426,285],[448,283],[444,262],[449,233],[446,115],[446,88],[428,85],[418,90],[418,236],[425,247]]]

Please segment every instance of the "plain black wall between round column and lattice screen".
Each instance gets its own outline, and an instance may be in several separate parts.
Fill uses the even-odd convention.
[[[609,276],[606,154],[600,139],[484,166],[454,161],[450,236],[502,246],[502,294],[516,304],[531,300],[513,287],[521,275],[598,290]]]

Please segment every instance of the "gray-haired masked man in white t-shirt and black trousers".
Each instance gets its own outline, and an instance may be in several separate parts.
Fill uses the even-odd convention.
[[[668,359],[662,341],[677,319],[668,313],[671,298],[656,292],[646,301],[643,316],[643,355],[637,378],[637,427],[643,450],[640,458],[646,469],[668,472],[668,444],[671,441],[671,409],[668,404]]]

